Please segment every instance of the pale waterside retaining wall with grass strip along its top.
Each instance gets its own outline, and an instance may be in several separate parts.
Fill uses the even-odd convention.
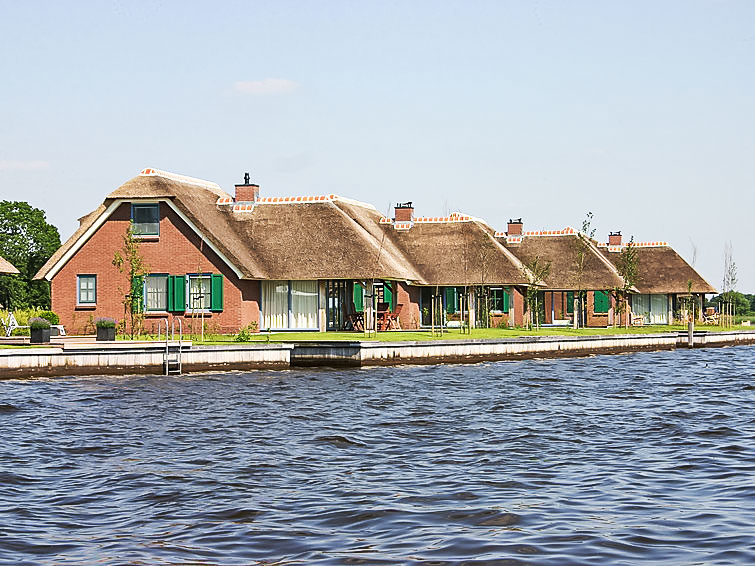
[[[696,331],[691,344],[686,329],[681,327],[672,331],[668,327],[665,331],[633,328],[632,332],[564,328],[541,329],[537,333],[491,330],[497,335],[489,337],[485,330],[475,330],[471,336],[451,331],[434,339],[427,332],[380,333],[372,339],[363,339],[360,333],[276,334],[247,343],[232,339],[183,341],[180,348],[178,341],[171,341],[166,348],[165,341],[157,340],[94,342],[70,337],[60,338],[50,347],[0,349],[0,378],[163,374],[166,359],[175,358],[179,349],[181,373],[190,373],[294,366],[475,363],[755,344],[755,330]],[[502,335],[503,332],[507,334]]]

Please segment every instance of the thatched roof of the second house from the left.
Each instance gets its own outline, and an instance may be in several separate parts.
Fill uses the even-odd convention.
[[[469,218],[469,217],[467,217]],[[408,230],[384,225],[427,285],[527,285],[521,262],[483,221],[415,221]]]

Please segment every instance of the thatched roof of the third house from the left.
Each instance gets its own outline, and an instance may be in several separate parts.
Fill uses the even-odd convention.
[[[568,232],[568,230],[564,230]],[[573,231],[572,231],[573,232]],[[550,262],[550,274],[545,278],[546,289],[568,291],[573,289],[613,289],[621,287],[623,280],[614,265],[607,261],[589,239],[580,240],[576,233],[557,235],[524,235],[520,243],[506,243],[499,240],[525,265],[535,258]],[[577,249],[580,241],[585,245],[585,265],[580,274],[576,265]]]

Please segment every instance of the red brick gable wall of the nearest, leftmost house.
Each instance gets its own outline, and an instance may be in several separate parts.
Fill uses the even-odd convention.
[[[131,205],[124,203],[78,250],[52,280],[52,309],[60,315],[67,332],[80,333],[91,320],[109,316],[124,318],[123,296],[128,292],[126,273],[113,266],[113,255],[123,247],[123,235],[131,218]],[[223,311],[205,313],[207,332],[234,333],[252,321],[259,324],[260,283],[241,281],[215,252],[197,236],[166,203],[160,203],[159,238],[140,241],[139,251],[151,273],[222,273]],[[97,304],[76,305],[76,276],[97,275]],[[173,315],[149,314],[145,328],[157,330],[159,319]],[[183,316],[184,332],[200,330],[199,316]],[[88,328],[89,331],[91,327]]]

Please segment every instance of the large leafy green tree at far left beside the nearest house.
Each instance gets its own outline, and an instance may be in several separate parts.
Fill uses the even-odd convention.
[[[26,202],[0,201],[0,256],[21,275],[0,275],[0,303],[7,308],[50,308],[50,283],[32,281],[60,247],[58,229],[44,211]]]

